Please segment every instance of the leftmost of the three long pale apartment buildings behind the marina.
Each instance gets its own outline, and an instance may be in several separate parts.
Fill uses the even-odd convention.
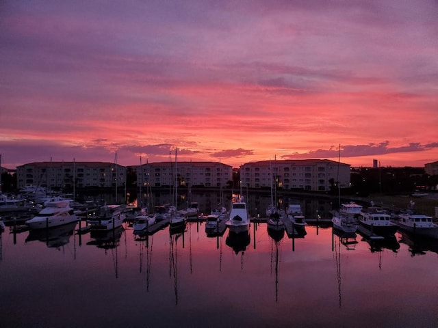
[[[39,162],[16,168],[17,188],[29,185],[51,189],[121,187],[126,167],[105,162]]]

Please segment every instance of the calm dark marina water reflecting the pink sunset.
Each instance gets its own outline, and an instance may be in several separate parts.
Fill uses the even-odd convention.
[[[438,243],[75,228],[1,234],[1,327],[438,327]]]

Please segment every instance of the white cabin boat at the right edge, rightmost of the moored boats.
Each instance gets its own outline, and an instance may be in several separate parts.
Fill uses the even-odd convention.
[[[424,214],[402,213],[398,215],[397,226],[417,236],[438,238],[438,224],[433,222],[432,217]]]

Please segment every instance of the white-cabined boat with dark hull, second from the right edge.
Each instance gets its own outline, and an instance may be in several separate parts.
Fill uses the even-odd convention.
[[[381,208],[370,207],[361,210],[358,221],[361,226],[377,236],[394,236],[397,232],[397,225],[391,221],[391,215]]]

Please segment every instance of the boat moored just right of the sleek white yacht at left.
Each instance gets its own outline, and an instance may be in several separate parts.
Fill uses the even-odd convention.
[[[125,214],[118,204],[101,206],[99,215],[87,220],[90,231],[107,231],[122,226],[125,221]]]

